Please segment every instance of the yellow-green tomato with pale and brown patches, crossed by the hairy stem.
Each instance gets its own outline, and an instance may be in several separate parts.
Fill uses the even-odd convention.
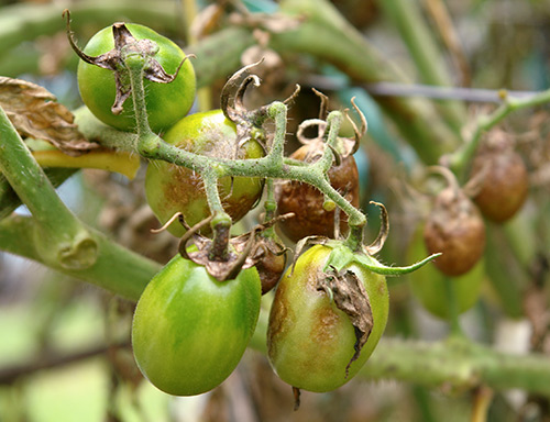
[[[190,114],[176,123],[164,135],[172,145],[195,154],[218,158],[261,158],[262,146],[253,140],[237,148],[237,129],[221,110]],[[235,157],[237,154],[237,157]],[[233,221],[242,219],[262,195],[262,179],[230,177],[218,181],[226,212]],[[202,179],[198,173],[163,160],[152,160],[145,175],[147,202],[161,221],[167,222],[176,212],[194,225],[210,215]],[[168,231],[182,236],[184,227],[174,222]]]

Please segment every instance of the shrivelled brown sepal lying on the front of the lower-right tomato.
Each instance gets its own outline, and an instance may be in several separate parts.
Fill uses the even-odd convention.
[[[359,358],[371,335],[374,325],[373,310],[365,286],[353,271],[338,271],[332,267],[326,275],[327,277],[319,278],[318,290],[323,290],[331,298],[337,308],[348,315],[355,330],[355,353],[345,367],[348,377],[350,365]]]

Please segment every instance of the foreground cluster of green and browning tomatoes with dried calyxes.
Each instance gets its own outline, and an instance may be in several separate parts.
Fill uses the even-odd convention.
[[[260,201],[265,180],[229,177],[208,163],[221,166],[256,159],[251,163],[257,164],[268,153],[270,136],[263,126],[266,109],[249,112],[242,104],[244,89],[255,79],[246,77],[238,86],[237,76],[242,75],[235,74],[226,86],[235,92],[230,96],[224,88],[222,109],[186,115],[196,84],[193,66],[179,47],[141,25],[116,24],[112,32],[114,41],[110,29],[105,29],[84,52],[69,38],[82,58],[78,84],[85,104],[103,123],[141,136],[144,122],[139,101],[135,97],[133,103],[125,101],[139,95],[128,64],[132,55],[141,54],[148,132],[161,134],[161,145],[172,154],[185,151],[202,163],[188,168],[165,156],[148,162],[147,202],[164,227],[182,241],[179,254],[151,280],[135,309],[132,345],[143,375],[176,396],[199,395],[220,385],[254,333],[262,295],[278,284],[267,333],[274,370],[296,389],[329,391],[342,386],[365,364],[384,332],[388,316],[384,275],[398,269],[384,267],[371,256],[362,244],[362,231],[348,227],[346,215],[336,213],[334,202],[296,181],[283,185],[278,195],[270,184],[274,207],[265,208],[270,216],[261,229],[231,237],[231,222]],[[290,159],[306,162],[300,166],[327,162],[323,182],[356,208],[359,174],[352,154],[361,131],[355,127],[353,147],[339,149],[336,142],[327,145],[328,120],[322,119],[317,120],[323,124],[316,142]],[[333,140],[345,144],[337,135]],[[216,174],[213,184],[210,177],[206,185],[207,171]],[[213,199],[212,189],[218,193]],[[219,204],[213,207],[212,201]],[[279,223],[294,242],[310,236],[328,242],[297,254],[283,277],[286,247],[273,227]],[[348,232],[349,238],[360,241],[342,241],[341,234]],[[188,248],[191,240],[195,246]],[[383,241],[377,243],[381,246]]]

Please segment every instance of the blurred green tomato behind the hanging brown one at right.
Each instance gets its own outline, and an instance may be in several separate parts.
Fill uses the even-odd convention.
[[[415,233],[409,246],[408,259],[418,260],[427,255],[422,241],[422,230]],[[452,277],[454,295],[458,300],[459,312],[471,309],[480,298],[485,275],[485,266],[481,259],[470,271],[462,276]],[[449,300],[446,288],[446,275],[435,265],[428,264],[410,274],[413,293],[420,303],[433,315],[449,319]]]

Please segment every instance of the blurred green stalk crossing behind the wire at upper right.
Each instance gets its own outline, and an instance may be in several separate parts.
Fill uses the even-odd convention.
[[[442,59],[443,55],[426,24],[418,2],[414,0],[382,0],[377,3],[399,31],[402,40],[407,45],[416,64],[421,82],[442,87],[452,86],[452,78]],[[460,134],[468,116],[464,104],[443,100],[439,102],[438,108],[453,131]]]

